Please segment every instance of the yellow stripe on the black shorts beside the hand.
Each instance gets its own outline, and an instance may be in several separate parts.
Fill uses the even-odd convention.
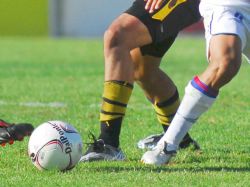
[[[176,1],[174,6],[171,3]],[[170,0],[164,7],[161,8],[156,14],[152,16],[153,19],[164,20],[178,5],[185,3],[187,0]]]

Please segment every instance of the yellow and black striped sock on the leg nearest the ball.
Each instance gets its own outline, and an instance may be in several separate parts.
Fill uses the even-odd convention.
[[[119,146],[122,119],[133,90],[133,85],[125,81],[106,81],[100,112],[101,134],[105,144]]]

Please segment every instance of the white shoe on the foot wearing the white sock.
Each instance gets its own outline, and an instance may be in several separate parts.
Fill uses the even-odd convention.
[[[176,150],[169,148],[167,143],[158,144],[153,150],[147,151],[141,158],[141,162],[151,165],[167,164],[173,156],[176,155]]]

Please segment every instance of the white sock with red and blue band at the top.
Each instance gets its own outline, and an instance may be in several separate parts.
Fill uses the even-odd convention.
[[[196,77],[197,78],[197,77]],[[198,87],[197,82],[198,81]],[[204,87],[205,86],[205,87]],[[196,120],[206,112],[216,99],[217,93],[211,88],[209,90],[199,79],[193,79],[185,89],[185,95],[172,120],[170,127],[159,141],[167,142],[170,149],[177,149],[183,137],[196,122]],[[215,95],[211,95],[215,93]],[[210,94],[210,95],[209,95]]]

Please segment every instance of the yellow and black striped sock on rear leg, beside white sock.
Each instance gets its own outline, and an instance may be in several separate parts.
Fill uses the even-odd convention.
[[[164,131],[166,132],[174,115],[180,105],[179,93],[176,90],[175,94],[168,100],[163,102],[154,103],[154,109],[157,115],[157,119],[162,124]]]

